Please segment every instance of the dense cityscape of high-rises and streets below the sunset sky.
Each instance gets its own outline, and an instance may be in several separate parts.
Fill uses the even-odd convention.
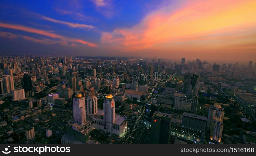
[[[0,143],[255,144],[256,63],[216,62],[1,56]]]

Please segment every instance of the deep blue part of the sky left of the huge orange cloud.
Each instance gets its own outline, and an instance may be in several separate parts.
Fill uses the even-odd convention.
[[[98,45],[102,32],[113,32],[117,28],[133,27],[148,12],[157,8],[159,2],[141,0],[1,0],[0,22],[54,32],[58,35],[82,39]],[[89,25],[93,28],[70,27],[62,23],[45,20],[42,16],[62,22]],[[40,34],[6,27],[0,28],[0,31],[33,38],[42,37]],[[51,37],[44,36],[43,38],[50,39]],[[1,39],[3,40],[3,38]],[[34,44],[31,41],[29,43]],[[12,41],[9,44],[12,44]]]

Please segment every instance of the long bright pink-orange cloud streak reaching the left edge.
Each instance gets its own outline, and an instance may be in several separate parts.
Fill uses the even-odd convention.
[[[21,26],[21,25],[12,25],[12,24],[0,23],[0,27],[21,30],[21,31],[24,31],[24,32],[35,33],[35,34],[39,34],[39,35],[43,35],[43,36],[47,36],[47,37],[56,38],[56,39],[59,39],[61,41],[65,41],[65,42],[81,43],[81,44],[85,44],[85,45],[92,46],[92,47],[97,46],[96,44],[93,44],[93,43],[90,43],[90,42],[87,42],[87,41],[84,41],[84,40],[81,40],[81,39],[68,38],[68,37],[58,35],[58,34],[54,34],[52,32],[47,32],[47,31],[44,31],[44,30],[34,29],[34,28],[25,27],[25,26]]]

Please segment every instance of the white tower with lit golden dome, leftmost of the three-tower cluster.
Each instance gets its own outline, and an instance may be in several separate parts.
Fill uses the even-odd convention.
[[[74,115],[74,123],[83,126],[86,121],[86,113],[85,113],[85,98],[82,94],[77,94],[73,98],[73,115]]]

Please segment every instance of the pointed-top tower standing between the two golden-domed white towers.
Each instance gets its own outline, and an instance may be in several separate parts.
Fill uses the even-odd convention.
[[[94,115],[98,112],[98,100],[94,93],[94,88],[91,88],[90,93],[87,97],[87,114],[89,116]]]

